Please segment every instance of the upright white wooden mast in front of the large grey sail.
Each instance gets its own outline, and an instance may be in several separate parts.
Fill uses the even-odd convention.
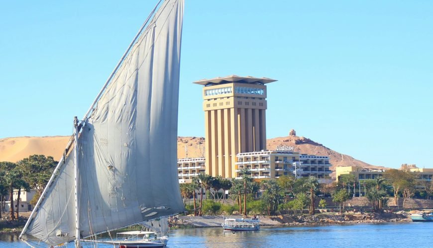
[[[80,215],[78,191],[78,118],[74,117],[74,201],[75,201],[75,247],[80,248]]]

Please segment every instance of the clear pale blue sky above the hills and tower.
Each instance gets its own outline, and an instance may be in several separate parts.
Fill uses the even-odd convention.
[[[69,135],[157,0],[4,1],[0,138]],[[270,77],[267,137],[370,164],[433,168],[433,1],[186,0],[179,135],[204,136],[201,86]]]

